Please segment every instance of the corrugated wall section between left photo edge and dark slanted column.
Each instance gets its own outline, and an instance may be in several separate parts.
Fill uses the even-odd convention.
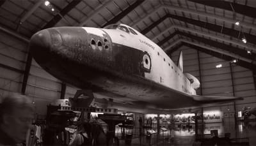
[[[19,70],[24,70],[28,44],[0,31],[0,63]],[[23,74],[10,68],[0,67],[0,98],[10,92],[20,92]]]

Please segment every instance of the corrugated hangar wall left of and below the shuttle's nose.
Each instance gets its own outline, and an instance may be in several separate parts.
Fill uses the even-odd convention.
[[[21,92],[28,43],[0,31],[0,99],[10,92]],[[32,61],[26,95],[35,103],[36,113],[46,115],[47,105],[55,99],[60,99],[61,82],[44,71],[35,60]],[[76,92],[74,87],[67,87],[67,97]],[[71,95],[69,95],[71,94]]]

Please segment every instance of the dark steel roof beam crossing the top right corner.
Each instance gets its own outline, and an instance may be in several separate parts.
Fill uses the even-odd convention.
[[[253,8],[251,6],[246,6],[244,4],[230,3],[228,1],[212,1],[212,0],[208,0],[208,1],[188,0],[188,1],[192,1],[198,4],[204,4],[206,6],[212,6],[214,8],[220,8],[228,11],[233,11],[232,9],[232,6],[233,6],[234,12],[246,15],[248,17],[256,18],[256,13],[255,13],[256,8]]]

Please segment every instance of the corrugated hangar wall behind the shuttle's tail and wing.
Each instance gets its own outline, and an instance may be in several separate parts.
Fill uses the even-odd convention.
[[[250,69],[230,64],[228,61],[186,46],[173,52],[171,58],[175,63],[179,59],[180,50],[184,57],[184,72],[191,73],[198,80],[201,78],[202,95],[243,97],[244,100],[236,101],[236,111],[241,111],[244,106],[256,107],[256,90],[253,73]],[[218,64],[222,64],[222,68],[216,68]],[[234,88],[232,84],[234,84]],[[196,91],[197,94],[201,94],[200,89]],[[218,107],[204,108],[204,110],[218,109],[222,112],[234,112],[234,102],[221,104]]]

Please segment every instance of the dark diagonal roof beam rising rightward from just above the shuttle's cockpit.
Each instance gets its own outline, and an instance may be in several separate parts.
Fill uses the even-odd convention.
[[[119,13],[116,17],[109,20],[106,24],[104,24],[102,27],[108,26],[109,24],[115,24],[116,22],[120,21],[122,18],[124,18],[128,13],[130,13],[132,10],[134,10],[137,6],[140,6],[141,3],[143,3],[145,0],[137,0],[135,3],[133,3],[131,6],[126,8],[124,11]]]

